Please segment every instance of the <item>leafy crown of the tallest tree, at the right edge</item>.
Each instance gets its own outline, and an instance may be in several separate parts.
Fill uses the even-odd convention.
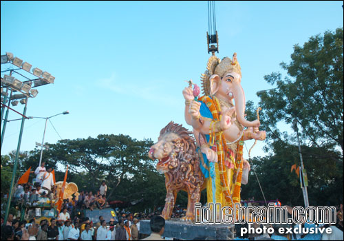
[[[259,94],[269,137],[294,139],[281,134],[277,124],[297,120],[308,146],[340,148],[341,156],[330,154],[339,160],[343,158],[343,28],[312,36],[303,47],[294,45],[291,59],[289,64],[281,63],[288,76],[282,79],[279,72],[265,76],[277,88]]]

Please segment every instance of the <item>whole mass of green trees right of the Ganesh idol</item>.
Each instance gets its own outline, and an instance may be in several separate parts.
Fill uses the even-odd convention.
[[[258,94],[269,155],[254,159],[253,169],[266,196],[303,204],[298,178],[290,173],[291,165],[300,161],[297,136],[280,130],[281,123],[291,126],[296,120],[310,204],[338,204],[343,202],[343,28],[312,36],[302,47],[294,45],[291,59],[289,64],[281,63],[285,78],[279,72],[264,77],[277,87]],[[253,103],[247,107],[248,118],[255,118]],[[246,191],[262,198],[255,179],[250,176],[251,183],[243,187],[247,198]]]

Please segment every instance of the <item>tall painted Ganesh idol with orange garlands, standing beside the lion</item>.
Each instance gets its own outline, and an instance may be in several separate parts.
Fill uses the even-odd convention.
[[[204,96],[195,98],[192,82],[182,92],[185,120],[193,127],[206,178],[207,202],[233,207],[240,202],[243,168],[250,169],[243,158],[244,140],[264,140],[266,132],[259,130],[259,119],[245,119],[245,94],[236,53],[233,59],[211,56],[201,81]]]

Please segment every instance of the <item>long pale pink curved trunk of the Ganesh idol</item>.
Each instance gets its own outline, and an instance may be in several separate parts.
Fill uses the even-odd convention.
[[[237,121],[244,127],[259,127],[259,120],[246,121],[245,119],[245,93],[240,83],[233,83],[233,95],[235,99],[235,112],[237,113]]]

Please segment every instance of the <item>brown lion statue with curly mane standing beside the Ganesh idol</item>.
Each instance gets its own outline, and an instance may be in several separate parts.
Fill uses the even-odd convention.
[[[186,216],[182,220],[194,220],[195,203],[200,202],[204,177],[196,151],[192,132],[171,121],[160,131],[158,143],[151,146],[149,158],[159,162],[156,169],[165,175],[166,199],[162,217],[171,218],[178,191],[188,193]]]

